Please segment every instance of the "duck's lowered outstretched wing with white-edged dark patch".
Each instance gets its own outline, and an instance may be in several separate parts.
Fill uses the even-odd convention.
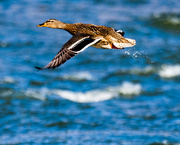
[[[78,33],[74,35],[64,46],[62,49],[57,53],[57,55],[53,58],[51,62],[49,62],[48,65],[46,65],[43,68],[35,67],[39,70],[41,69],[54,69],[61,64],[65,63],[67,60],[78,54],[79,52],[83,51],[87,47],[95,44],[98,42],[100,38],[98,39],[92,39],[87,34]]]

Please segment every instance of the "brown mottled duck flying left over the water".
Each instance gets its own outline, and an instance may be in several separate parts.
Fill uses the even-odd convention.
[[[72,35],[70,40],[62,46],[46,66],[35,67],[38,70],[59,67],[89,46],[102,49],[124,49],[124,47],[133,47],[136,44],[134,39],[125,38],[125,33],[122,30],[115,30],[107,26],[84,23],[70,24],[56,19],[49,19],[37,25],[37,27],[63,29]]]

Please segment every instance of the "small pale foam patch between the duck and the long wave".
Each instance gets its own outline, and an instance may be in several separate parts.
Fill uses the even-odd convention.
[[[72,74],[66,74],[63,77],[67,80],[73,80],[73,81],[82,81],[82,80],[96,80],[94,76],[92,76],[91,73],[83,71],[83,72],[76,72]]]

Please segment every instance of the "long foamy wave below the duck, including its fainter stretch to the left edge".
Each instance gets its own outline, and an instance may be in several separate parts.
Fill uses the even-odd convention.
[[[123,82],[120,86],[107,87],[105,89],[90,90],[87,92],[73,92],[69,90],[61,89],[48,89],[40,88],[33,89],[29,88],[27,90],[21,90],[16,92],[10,88],[1,88],[0,95],[3,97],[11,96],[12,94],[19,98],[19,96],[26,96],[41,101],[45,101],[48,96],[57,95],[62,98],[78,102],[78,103],[91,103],[100,102],[112,99],[117,96],[124,96],[126,98],[133,97],[134,95],[139,95],[142,91],[142,86],[140,84],[134,84],[131,82]],[[21,98],[21,97],[20,97]]]

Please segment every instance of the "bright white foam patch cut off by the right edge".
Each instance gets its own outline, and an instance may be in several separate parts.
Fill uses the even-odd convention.
[[[180,65],[162,65],[159,75],[163,78],[180,76]]]

